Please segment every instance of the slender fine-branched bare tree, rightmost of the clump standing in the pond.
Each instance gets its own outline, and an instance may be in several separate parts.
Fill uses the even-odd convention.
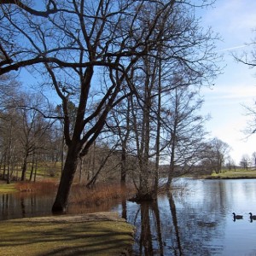
[[[172,177],[188,173],[201,161],[201,152],[205,150],[204,124],[208,119],[198,113],[203,101],[188,86],[176,87],[170,95],[170,102],[170,108],[166,109],[170,154],[167,188]]]

